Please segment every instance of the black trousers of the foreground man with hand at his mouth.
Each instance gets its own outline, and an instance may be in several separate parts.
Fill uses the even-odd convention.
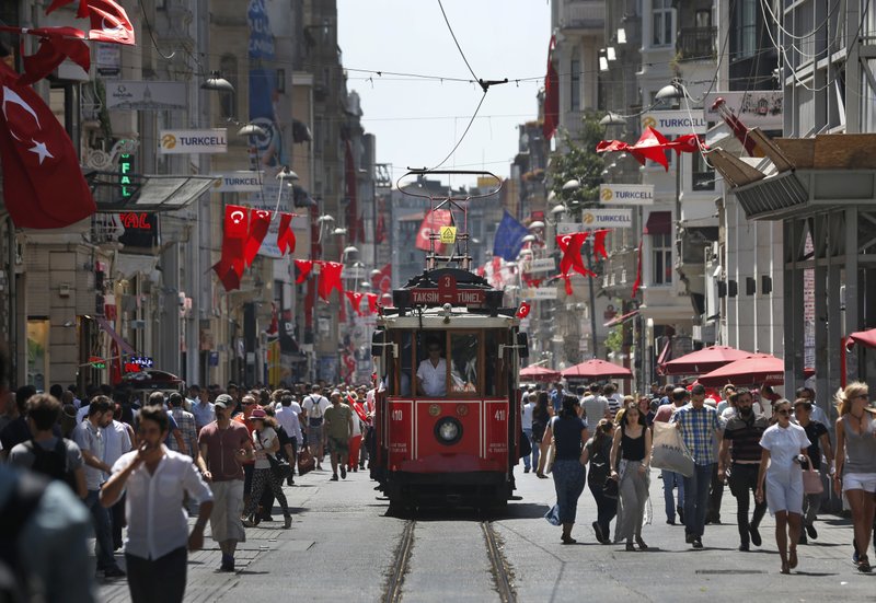
[[[134,603],[177,603],[185,595],[188,552],[184,546],[158,559],[125,555],[128,590]]]

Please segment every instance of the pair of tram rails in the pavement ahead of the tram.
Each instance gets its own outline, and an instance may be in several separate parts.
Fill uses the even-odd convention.
[[[405,522],[399,546],[393,555],[393,563],[390,566],[387,587],[383,591],[383,603],[400,603],[403,600],[405,576],[411,571],[416,525],[416,520],[407,520]],[[486,555],[489,559],[493,590],[498,594],[502,603],[517,603],[511,568],[493,530],[493,523],[491,521],[481,521],[480,530],[483,536],[483,544],[486,547]]]

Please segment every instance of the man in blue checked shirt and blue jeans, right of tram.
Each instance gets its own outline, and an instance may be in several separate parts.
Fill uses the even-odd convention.
[[[708,510],[708,487],[715,468],[714,438],[721,431],[715,408],[705,405],[705,387],[691,389],[691,403],[678,408],[670,422],[681,430],[684,445],[693,456],[693,475],[684,478],[684,542],[703,547],[705,515]]]

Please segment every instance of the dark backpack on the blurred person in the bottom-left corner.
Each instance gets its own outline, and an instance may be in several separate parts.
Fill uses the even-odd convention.
[[[12,482],[12,491],[0,506],[0,601],[25,602],[27,577],[21,567],[19,534],[36,510],[48,480],[23,472]]]

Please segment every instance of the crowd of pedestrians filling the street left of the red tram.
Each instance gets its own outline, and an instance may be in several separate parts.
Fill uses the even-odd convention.
[[[5,370],[5,358],[0,358],[0,374]],[[274,521],[275,500],[281,526],[291,527],[295,509],[283,487],[295,485],[299,460],[310,468],[312,454],[321,468],[327,451],[330,480],[338,480],[338,473],[346,478],[368,461],[362,442],[371,437],[373,389],[326,389],[331,402],[323,389],[243,390],[229,383],[224,391],[193,385],[187,396],[155,391],[145,398],[108,386],[89,389],[81,397],[76,387],[60,385],[48,394],[32,386],[0,391],[0,455],[5,461],[0,487],[20,487],[27,496],[66,505],[64,513],[53,509],[67,522],[66,533],[56,529],[49,534],[55,541],[44,555],[56,559],[49,567],[13,568],[15,589],[21,589],[15,595],[87,602],[95,600],[95,579],[127,578],[135,602],[182,601],[187,554],[203,546],[208,523],[221,549],[218,569],[234,571],[238,545],[249,529]],[[30,485],[31,476],[47,485]],[[38,512],[39,505],[25,505],[24,496],[12,497],[15,508]],[[7,522],[26,524],[27,517],[5,507],[2,511]],[[197,520],[189,527],[191,515]],[[87,569],[89,532],[96,572],[94,566]],[[0,572],[4,561],[0,557]]]

